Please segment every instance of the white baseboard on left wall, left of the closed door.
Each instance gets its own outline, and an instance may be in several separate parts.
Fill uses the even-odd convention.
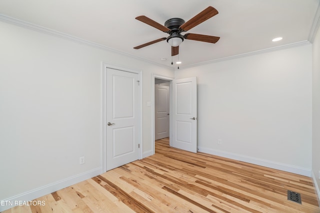
[[[73,184],[79,183],[81,181],[87,180],[89,178],[92,178],[100,174],[101,174],[101,168],[92,169],[82,174],[75,175],[70,178],[66,178],[64,180],[57,181],[55,183],[52,183],[43,187],[39,187],[29,192],[25,192],[20,195],[5,199],[3,201],[0,201],[1,202],[0,212],[10,209],[14,206],[17,206],[16,203],[18,202],[21,203],[23,201],[25,202],[32,201],[36,198],[42,197],[44,195],[50,194],[52,192],[55,192],[57,190],[63,189],[65,187],[71,186]]]

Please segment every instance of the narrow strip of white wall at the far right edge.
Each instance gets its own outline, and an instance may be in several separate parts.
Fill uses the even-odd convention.
[[[320,28],[312,44],[312,172],[320,203]]]

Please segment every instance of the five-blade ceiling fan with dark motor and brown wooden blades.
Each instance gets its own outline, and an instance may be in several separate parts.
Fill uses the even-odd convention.
[[[193,28],[194,26],[202,23],[203,21],[216,15],[218,11],[212,7],[208,6],[200,13],[192,17],[190,20],[185,22],[182,18],[170,18],[164,22],[164,25],[159,24],[158,22],[144,16],[140,15],[135,17],[135,19],[142,21],[150,26],[153,26],[162,32],[169,34],[168,37],[159,38],[147,43],[141,44],[139,46],[133,47],[134,49],[140,49],[142,47],[148,46],[150,44],[157,43],[159,41],[166,40],[171,45],[171,56],[179,54],[179,45],[184,39],[203,41],[209,43],[215,43],[219,40],[220,37],[211,36],[211,35],[201,35],[194,33],[185,33],[184,35],[181,32],[186,32],[187,30]]]

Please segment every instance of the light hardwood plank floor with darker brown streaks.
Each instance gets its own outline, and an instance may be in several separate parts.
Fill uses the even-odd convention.
[[[4,213],[320,213],[308,177],[155,143],[156,154]],[[287,190],[302,204],[287,201]]]

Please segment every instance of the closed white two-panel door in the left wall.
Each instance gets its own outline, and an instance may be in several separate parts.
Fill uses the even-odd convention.
[[[106,170],[139,159],[138,74],[106,69]]]

